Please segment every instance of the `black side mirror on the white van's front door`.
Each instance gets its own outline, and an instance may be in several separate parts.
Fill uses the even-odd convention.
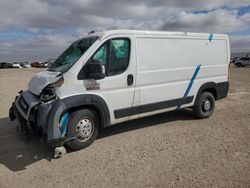
[[[105,66],[99,62],[87,63],[83,66],[79,74],[78,80],[95,79],[101,80],[105,78]]]

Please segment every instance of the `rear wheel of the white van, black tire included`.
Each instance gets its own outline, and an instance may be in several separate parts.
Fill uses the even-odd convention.
[[[212,93],[203,92],[200,96],[197,96],[193,113],[197,118],[208,118],[212,115],[215,108],[215,99]]]

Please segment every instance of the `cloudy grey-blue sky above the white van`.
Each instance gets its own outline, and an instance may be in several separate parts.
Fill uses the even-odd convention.
[[[1,0],[0,61],[56,58],[107,29],[225,33],[250,52],[250,0]]]

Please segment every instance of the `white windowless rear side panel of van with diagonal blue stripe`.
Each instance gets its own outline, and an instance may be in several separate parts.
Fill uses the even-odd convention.
[[[138,35],[137,44],[136,89],[139,88],[140,91],[141,106],[183,97],[193,96],[195,99],[204,83],[220,83],[228,79],[226,38],[216,39],[215,35],[210,41],[209,36],[205,38]],[[197,75],[192,80],[197,69]],[[194,101],[180,106],[176,103],[176,106],[193,106]],[[176,107],[142,113],[140,116],[173,109]]]

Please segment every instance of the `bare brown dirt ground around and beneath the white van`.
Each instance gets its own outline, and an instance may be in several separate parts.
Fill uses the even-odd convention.
[[[39,69],[0,70],[0,187],[250,187],[250,68],[209,119],[189,110],[108,128],[90,147],[53,159],[16,134],[8,109]]]

